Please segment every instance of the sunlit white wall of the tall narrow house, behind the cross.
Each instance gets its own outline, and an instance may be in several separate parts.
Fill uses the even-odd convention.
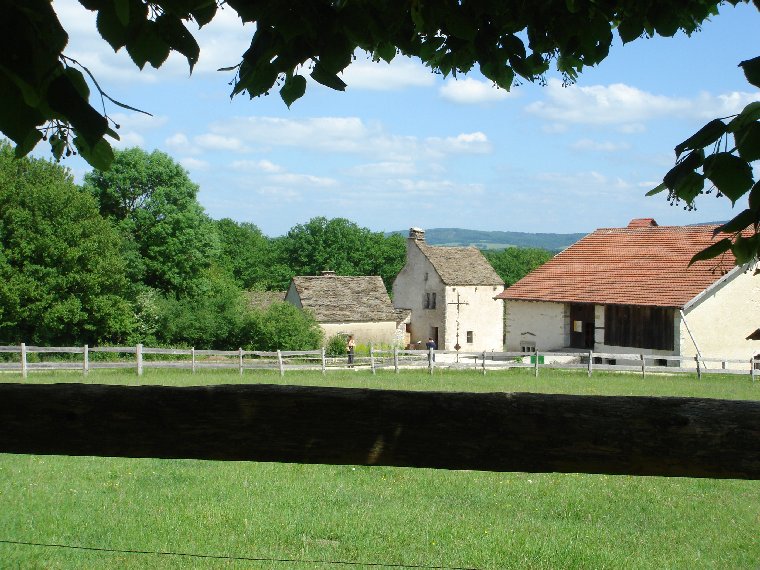
[[[460,350],[501,351],[504,306],[501,299],[494,297],[503,290],[498,285],[446,287],[444,310],[447,326],[438,348],[455,350],[458,320]],[[472,331],[472,343],[467,342],[467,331]]]

